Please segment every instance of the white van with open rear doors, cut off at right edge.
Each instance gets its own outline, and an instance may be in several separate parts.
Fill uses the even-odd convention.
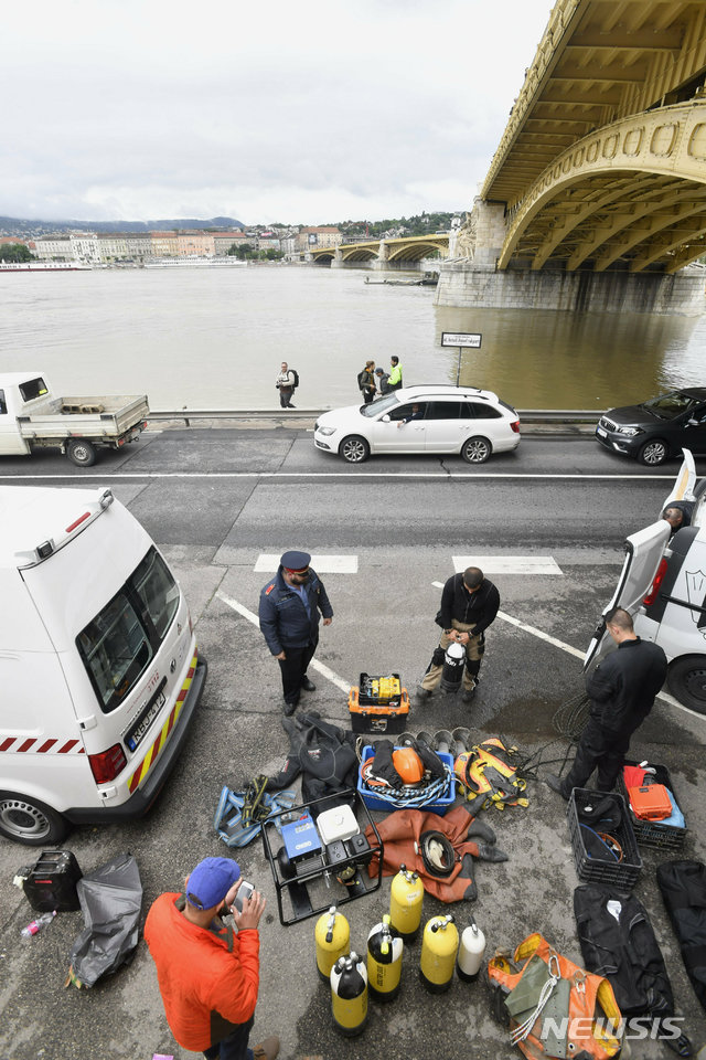
[[[688,449],[683,452],[684,463],[662,510],[673,501],[693,501],[691,526],[670,538],[672,528],[660,518],[627,539],[618,587],[603,616],[612,607],[624,607],[632,615],[635,633],[664,649],[672,695],[706,714],[706,479],[696,483],[694,458]],[[611,647],[603,617],[584,668]]]

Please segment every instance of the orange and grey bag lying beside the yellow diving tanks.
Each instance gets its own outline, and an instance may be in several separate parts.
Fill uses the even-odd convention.
[[[488,962],[493,1015],[509,1021],[510,1040],[530,1060],[610,1060],[620,1052],[620,1009],[613,988],[553,950],[538,933],[514,956]]]

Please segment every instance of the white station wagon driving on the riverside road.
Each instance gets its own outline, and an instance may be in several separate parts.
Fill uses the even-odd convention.
[[[520,445],[520,418],[490,390],[427,384],[319,416],[314,445],[362,464],[378,453],[458,453],[483,464]]]

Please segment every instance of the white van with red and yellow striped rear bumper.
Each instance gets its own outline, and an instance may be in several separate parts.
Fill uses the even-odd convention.
[[[146,813],[206,674],[165,560],[109,489],[0,487],[0,834]]]

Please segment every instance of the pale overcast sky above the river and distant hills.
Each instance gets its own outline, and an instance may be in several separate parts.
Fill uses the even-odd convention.
[[[7,3],[0,214],[323,224],[470,209],[550,10]]]

